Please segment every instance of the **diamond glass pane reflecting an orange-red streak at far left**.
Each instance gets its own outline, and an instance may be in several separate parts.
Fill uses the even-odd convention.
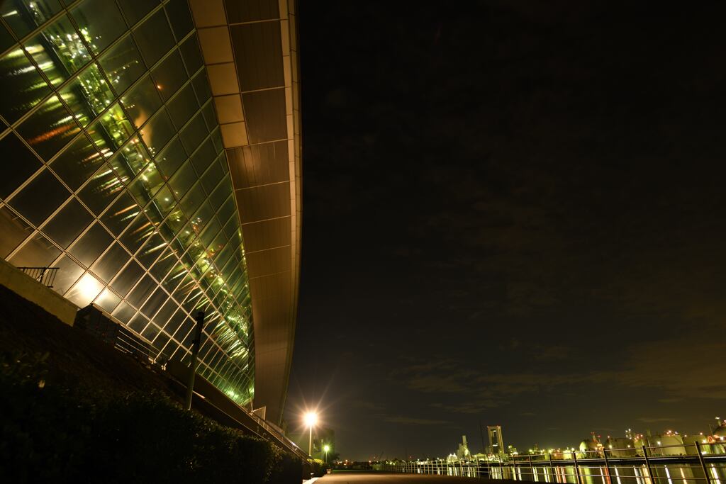
[[[49,160],[81,129],[60,99],[52,96],[30,118],[23,121],[17,131],[38,155]]]

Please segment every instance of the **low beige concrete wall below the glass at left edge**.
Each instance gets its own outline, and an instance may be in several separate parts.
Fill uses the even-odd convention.
[[[68,326],[73,326],[78,306],[2,259],[0,259],[0,284],[44,308]]]

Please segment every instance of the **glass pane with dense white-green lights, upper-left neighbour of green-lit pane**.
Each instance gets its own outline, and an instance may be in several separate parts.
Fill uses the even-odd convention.
[[[25,49],[56,86],[91,61],[91,54],[66,15],[25,42]]]

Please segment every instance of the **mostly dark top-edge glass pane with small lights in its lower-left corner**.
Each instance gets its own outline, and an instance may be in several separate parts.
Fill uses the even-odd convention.
[[[76,20],[94,54],[101,52],[126,30],[121,12],[113,1],[86,0],[71,10],[70,15]]]

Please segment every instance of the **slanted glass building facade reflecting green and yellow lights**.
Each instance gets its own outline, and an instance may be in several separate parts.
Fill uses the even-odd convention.
[[[0,7],[0,252],[60,268],[199,373],[254,393],[248,274],[227,157],[187,0],[9,0]]]

